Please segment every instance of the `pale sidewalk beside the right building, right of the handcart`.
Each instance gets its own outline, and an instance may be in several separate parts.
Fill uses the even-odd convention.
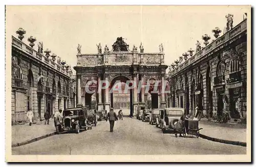
[[[222,140],[246,142],[246,125],[244,124],[220,124],[212,121],[201,120],[199,122],[200,134]]]

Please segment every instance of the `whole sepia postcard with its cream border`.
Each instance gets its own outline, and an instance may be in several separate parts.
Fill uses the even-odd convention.
[[[6,161],[250,162],[250,51],[251,6],[6,6]]]

